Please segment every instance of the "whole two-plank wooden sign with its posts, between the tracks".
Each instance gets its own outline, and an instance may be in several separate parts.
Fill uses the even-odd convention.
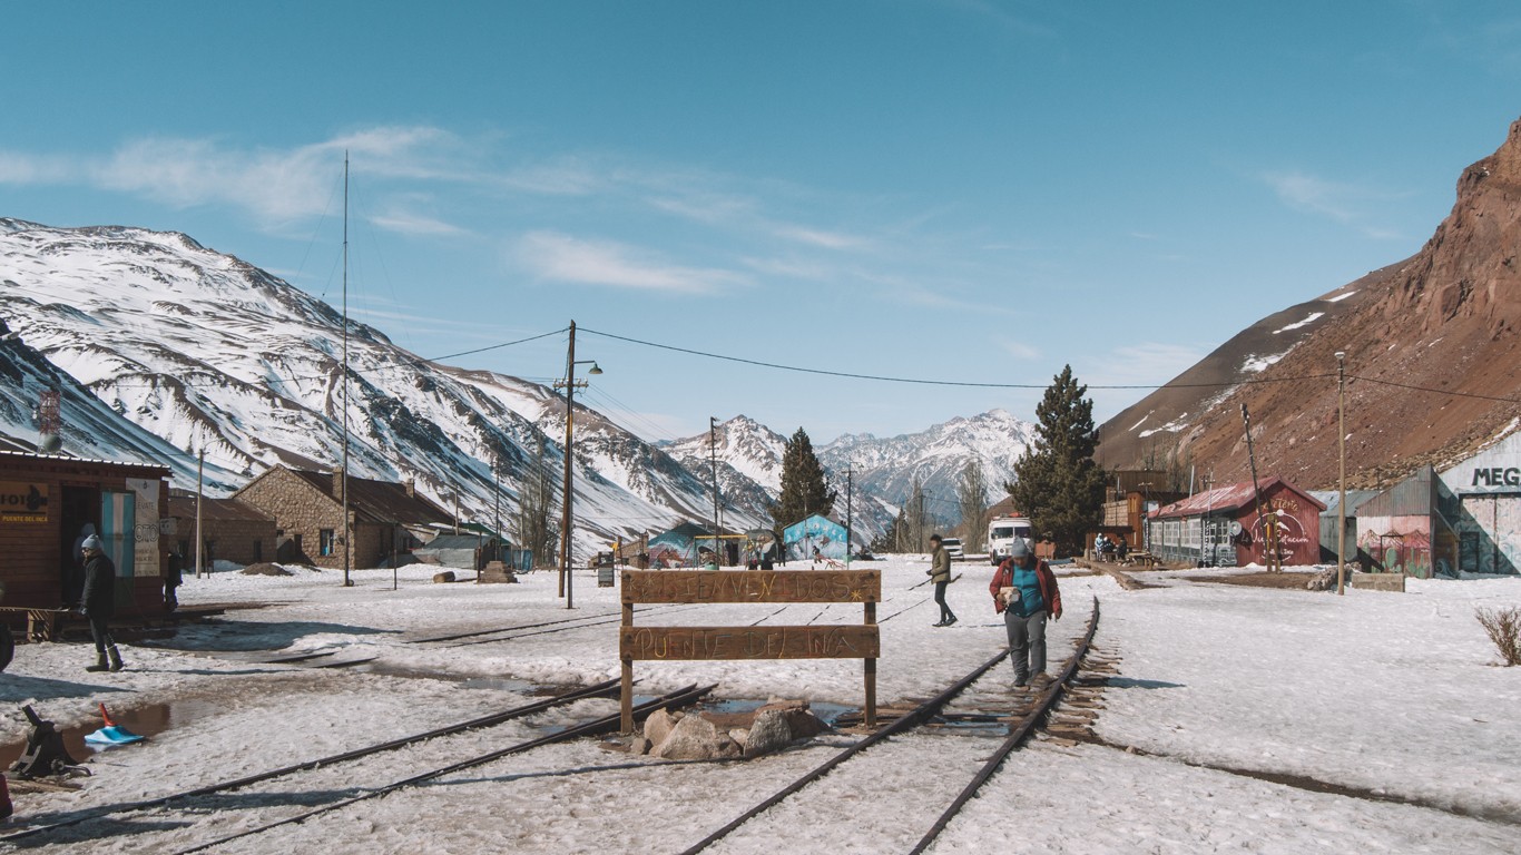
[[[864,659],[865,724],[876,727],[876,660],[882,653],[876,604],[881,571],[624,571],[622,727],[634,732],[634,660]],[[648,602],[859,602],[861,625],[636,627]]]

